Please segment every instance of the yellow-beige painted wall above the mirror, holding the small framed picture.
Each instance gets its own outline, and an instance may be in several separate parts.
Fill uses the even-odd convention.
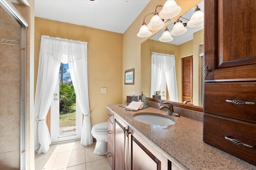
[[[194,6],[196,6],[202,0],[176,0],[176,3],[181,6],[182,11],[180,14],[184,14],[184,12],[190,10]],[[164,4],[165,0],[151,0],[148,5],[144,8],[144,10],[140,13],[140,15],[134,20],[134,22],[130,25],[130,27],[124,33],[124,41],[123,41],[123,72],[130,68],[135,68],[135,80],[134,85],[124,85],[124,75],[123,77],[123,95],[122,101],[123,103],[126,102],[126,96],[130,95],[133,91],[140,94],[141,88],[141,47],[140,44],[148,39],[146,38],[139,38],[137,37],[137,33],[141,27],[142,21],[147,14],[154,12],[155,8],[159,4]],[[159,9],[158,9],[159,10]],[[173,18],[172,21],[176,20],[180,15]],[[149,23],[150,17],[146,18],[146,23]],[[167,23],[168,24],[168,23]],[[167,25],[166,24],[166,25]],[[152,36],[157,31],[152,31]],[[142,61],[143,62],[143,61]]]

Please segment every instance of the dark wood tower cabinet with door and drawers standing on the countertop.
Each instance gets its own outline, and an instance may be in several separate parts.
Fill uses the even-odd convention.
[[[204,128],[210,145],[256,165],[256,1],[204,1]]]

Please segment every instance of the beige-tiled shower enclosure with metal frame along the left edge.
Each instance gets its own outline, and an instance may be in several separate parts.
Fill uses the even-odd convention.
[[[0,169],[27,169],[30,7],[0,0]]]

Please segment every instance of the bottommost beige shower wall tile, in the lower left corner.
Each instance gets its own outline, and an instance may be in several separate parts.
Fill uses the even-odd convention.
[[[8,170],[20,167],[20,151],[0,153],[1,170]]]

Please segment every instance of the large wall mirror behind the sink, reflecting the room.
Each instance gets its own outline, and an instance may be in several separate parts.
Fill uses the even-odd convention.
[[[198,7],[204,12],[204,1],[200,2]],[[183,25],[190,20],[195,9],[196,7],[193,7],[188,12],[180,14]],[[167,25],[169,31],[172,30],[175,21]],[[158,40],[165,30],[163,28],[141,44],[141,90],[149,100],[152,98],[152,94],[150,94],[151,53],[175,55],[178,103],[182,104],[188,100],[190,102],[187,102],[186,105],[199,106],[198,108],[202,110],[204,100],[204,25],[185,27],[187,32],[182,35],[172,35],[173,40],[170,42],[164,43]],[[187,66],[187,60],[189,60],[189,66]],[[168,89],[164,85],[159,90],[161,91],[161,100],[171,101],[168,97]],[[152,101],[157,100],[153,99]],[[182,105],[185,106],[185,104]]]

